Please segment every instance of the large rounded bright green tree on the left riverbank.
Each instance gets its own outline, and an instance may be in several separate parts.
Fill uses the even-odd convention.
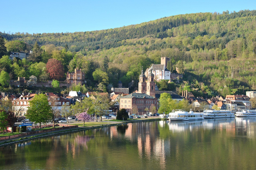
[[[29,104],[27,117],[30,121],[39,123],[40,128],[42,123],[46,123],[52,119],[51,106],[45,94],[35,95]]]

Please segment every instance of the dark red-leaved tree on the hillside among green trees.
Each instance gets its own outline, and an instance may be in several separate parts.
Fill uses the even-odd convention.
[[[55,80],[59,80],[64,76],[64,68],[60,61],[55,58],[48,60],[46,64],[46,71],[49,73],[50,77]]]

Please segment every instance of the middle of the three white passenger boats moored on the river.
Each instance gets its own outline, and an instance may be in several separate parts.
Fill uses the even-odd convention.
[[[229,110],[204,110],[204,119],[215,119],[215,118],[234,118],[235,114]]]

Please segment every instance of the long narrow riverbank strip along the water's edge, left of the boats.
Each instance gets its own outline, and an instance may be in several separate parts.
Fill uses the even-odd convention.
[[[160,120],[166,120],[166,119],[160,119],[160,118],[140,119],[140,120],[136,119],[136,120],[122,121],[122,122],[109,121],[108,124],[106,124],[106,122],[103,121],[102,124],[98,124],[96,126],[78,127],[78,128],[73,128],[73,129],[69,129],[69,130],[60,129],[60,130],[54,130],[54,131],[51,131],[51,132],[42,132],[40,134],[26,135],[26,136],[22,136],[22,138],[17,137],[17,138],[2,140],[2,141],[0,141],[0,147],[7,146],[7,145],[10,145],[10,144],[14,144],[14,143],[27,141],[27,140],[33,140],[33,139],[37,139],[37,138],[43,138],[43,137],[49,137],[49,136],[60,135],[60,134],[65,134],[65,133],[77,132],[77,131],[82,131],[82,130],[87,130],[87,129],[117,126],[117,125],[123,125],[123,124],[128,124],[128,123],[136,123],[136,122],[160,121]]]

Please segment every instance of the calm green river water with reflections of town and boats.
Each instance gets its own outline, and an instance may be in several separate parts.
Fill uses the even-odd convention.
[[[256,118],[139,122],[0,148],[0,169],[256,169]]]

